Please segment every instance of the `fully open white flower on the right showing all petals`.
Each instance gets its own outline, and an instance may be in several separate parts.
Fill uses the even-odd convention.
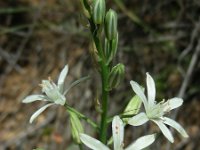
[[[147,97],[144,95],[143,90],[141,89],[140,85],[136,83],[135,81],[131,81],[130,84],[133,88],[133,91],[140,97],[144,104],[144,108],[146,113],[141,112],[138,115],[132,117],[128,124],[133,126],[139,126],[147,121],[151,120],[154,123],[158,125],[164,136],[170,141],[174,142],[174,138],[172,136],[172,133],[170,130],[166,127],[166,125],[169,125],[176,129],[183,137],[187,138],[188,134],[186,131],[181,127],[180,124],[178,124],[176,121],[164,117],[166,113],[171,111],[172,109],[175,109],[183,104],[183,100],[181,98],[172,98],[169,99],[167,102],[160,102],[156,103],[155,96],[156,96],[156,90],[155,90],[155,82],[153,78],[147,73],[146,78],[146,84],[147,84]],[[166,124],[166,125],[165,125]]]

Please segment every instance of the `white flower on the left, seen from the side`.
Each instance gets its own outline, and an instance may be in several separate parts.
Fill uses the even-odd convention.
[[[38,109],[30,118],[30,123],[33,122],[33,120],[38,117],[46,108],[48,108],[51,105],[59,104],[64,105],[66,102],[65,93],[64,91],[64,81],[68,74],[68,66],[66,65],[58,78],[57,85],[51,80],[42,80],[42,92],[44,92],[44,95],[30,95],[27,96],[22,102],[23,103],[31,103],[37,100],[40,101],[46,101],[49,102],[48,104],[44,105],[40,109]]]

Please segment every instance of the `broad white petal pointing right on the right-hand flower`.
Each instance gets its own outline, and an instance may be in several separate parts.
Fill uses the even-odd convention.
[[[180,107],[183,104],[183,99],[182,98],[178,98],[178,97],[174,97],[169,99],[167,102],[165,102],[163,104],[164,106],[164,111],[168,112],[172,109],[175,109],[177,107]]]

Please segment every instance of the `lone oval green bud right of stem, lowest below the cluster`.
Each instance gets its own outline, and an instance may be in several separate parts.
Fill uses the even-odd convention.
[[[116,88],[120,82],[123,80],[124,78],[124,65],[123,64],[117,64],[116,66],[114,66],[109,74],[109,87],[108,90],[111,90],[112,88]]]

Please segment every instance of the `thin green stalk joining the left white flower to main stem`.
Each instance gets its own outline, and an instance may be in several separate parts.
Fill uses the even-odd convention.
[[[97,131],[99,131],[99,127],[98,125],[93,122],[91,119],[89,119],[88,117],[86,117],[85,115],[83,115],[82,113],[78,112],[76,109],[68,106],[67,104],[65,104],[65,107],[67,110],[70,110],[72,112],[74,112],[76,115],[78,115],[81,119],[85,120],[87,123],[89,123],[92,127],[94,127],[95,129],[97,129]]]

